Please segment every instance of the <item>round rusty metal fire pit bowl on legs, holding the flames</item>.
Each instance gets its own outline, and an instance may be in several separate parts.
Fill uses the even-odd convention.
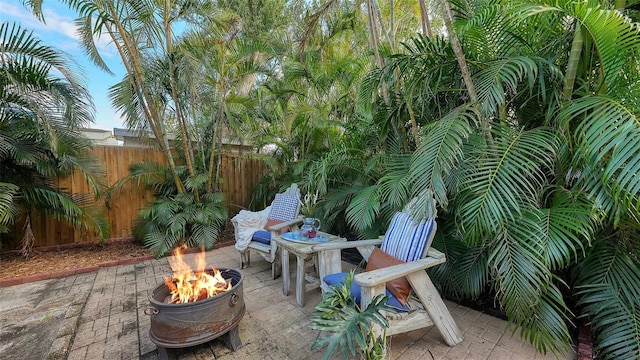
[[[185,304],[167,304],[170,295],[165,284],[158,285],[149,296],[151,305],[145,314],[151,316],[149,337],[158,346],[161,359],[173,355],[167,348],[184,348],[200,345],[222,335],[231,350],[236,351],[242,342],[238,335],[238,323],[245,313],[242,292],[243,276],[235,269],[218,269],[226,280],[231,279],[231,290],[214,297]],[[205,271],[213,274],[213,268]]]

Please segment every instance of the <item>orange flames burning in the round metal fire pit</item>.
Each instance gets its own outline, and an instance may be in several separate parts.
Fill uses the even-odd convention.
[[[164,283],[169,288],[171,296],[165,302],[172,304],[183,304],[198,300],[208,299],[224,291],[231,290],[231,280],[226,280],[217,269],[213,270],[213,275],[205,271],[207,263],[205,261],[204,249],[196,255],[196,271],[184,262],[182,251],[176,248],[173,257],[169,258],[173,277],[165,277]]]

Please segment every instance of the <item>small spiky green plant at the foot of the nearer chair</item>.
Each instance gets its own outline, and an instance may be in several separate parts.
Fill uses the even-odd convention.
[[[338,347],[343,359],[356,353],[367,360],[385,359],[386,328],[389,326],[389,320],[384,316],[384,312],[393,311],[386,305],[389,297],[380,294],[366,309],[361,309],[351,296],[353,277],[352,270],[344,282],[332,285],[329,291],[322,294],[322,301],[311,314],[309,328],[320,331],[311,349],[326,346],[325,360],[329,359]],[[376,334],[376,327],[382,329],[381,334]]]

